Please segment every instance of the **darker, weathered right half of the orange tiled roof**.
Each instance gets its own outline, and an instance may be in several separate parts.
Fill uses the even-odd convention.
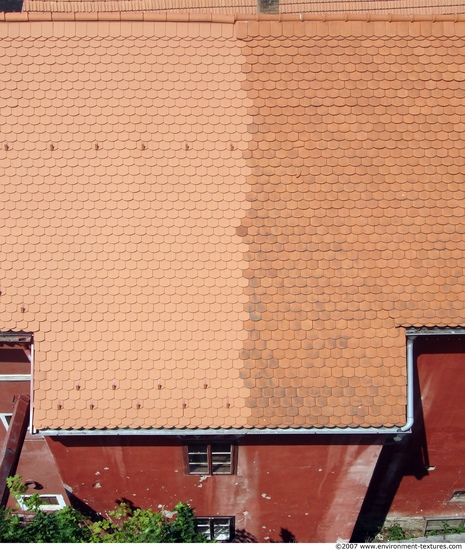
[[[361,39],[342,22],[317,38],[248,25],[242,376],[260,426],[402,425],[399,326],[465,320],[465,44],[367,25]],[[283,398],[293,384],[308,392]]]

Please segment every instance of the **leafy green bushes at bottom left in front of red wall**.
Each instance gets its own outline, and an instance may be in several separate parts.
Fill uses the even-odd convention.
[[[11,494],[21,498],[27,491],[20,476],[7,481]],[[169,516],[153,510],[132,510],[122,503],[109,512],[108,519],[91,523],[71,507],[54,512],[40,509],[40,495],[31,495],[26,506],[29,521],[12,510],[0,509],[0,542],[79,543],[79,542],[207,542],[195,530],[194,510],[184,503],[175,506]]]

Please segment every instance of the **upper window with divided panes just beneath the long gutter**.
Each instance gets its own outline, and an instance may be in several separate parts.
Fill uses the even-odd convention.
[[[236,469],[237,446],[232,442],[195,442],[184,447],[184,464],[189,475],[228,475]]]

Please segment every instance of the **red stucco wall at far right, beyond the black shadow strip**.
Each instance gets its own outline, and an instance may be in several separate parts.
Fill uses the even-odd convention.
[[[416,444],[390,516],[465,517],[465,503],[450,502],[465,490],[465,338],[417,338]]]

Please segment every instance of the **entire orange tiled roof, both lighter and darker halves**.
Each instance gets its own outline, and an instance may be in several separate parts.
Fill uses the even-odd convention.
[[[5,17],[35,428],[402,426],[402,326],[465,323],[464,18]]]

